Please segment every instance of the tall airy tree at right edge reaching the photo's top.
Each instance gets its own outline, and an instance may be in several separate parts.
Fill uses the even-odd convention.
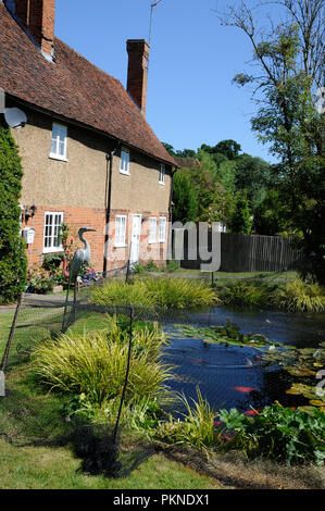
[[[235,83],[254,85],[259,110],[252,129],[278,159],[273,182],[286,205],[286,221],[301,232],[297,246],[304,252],[309,272],[325,282],[324,221],[320,220],[325,130],[324,113],[315,109],[315,91],[323,85],[325,0],[272,3],[284,10],[287,21],[273,24],[268,33],[258,28],[255,11],[246,2],[230,8],[223,24],[240,28],[251,41],[258,72],[240,73]]]

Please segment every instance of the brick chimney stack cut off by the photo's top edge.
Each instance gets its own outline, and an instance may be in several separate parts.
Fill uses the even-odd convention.
[[[4,0],[7,9],[20,20],[41,52],[53,55],[55,0]]]

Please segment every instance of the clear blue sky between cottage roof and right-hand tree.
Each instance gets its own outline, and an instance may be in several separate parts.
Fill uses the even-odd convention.
[[[55,35],[126,86],[126,40],[149,36],[153,0],[57,0]],[[175,149],[232,138],[272,161],[250,130],[251,92],[232,85],[251,47],[213,12],[227,0],[161,0],[154,9],[147,121]],[[77,84],[76,84],[77,86]]]

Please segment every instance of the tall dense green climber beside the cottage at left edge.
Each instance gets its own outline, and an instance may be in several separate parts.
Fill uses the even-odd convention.
[[[27,259],[20,235],[23,170],[9,129],[0,126],[0,297],[15,301],[24,290]]]

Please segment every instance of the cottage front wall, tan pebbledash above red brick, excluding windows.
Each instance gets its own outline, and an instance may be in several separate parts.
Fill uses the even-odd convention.
[[[104,269],[104,256],[108,271],[126,264],[133,214],[141,215],[140,262],[165,261],[167,232],[165,241],[157,239],[155,242],[149,244],[149,219],[155,216],[158,226],[161,216],[166,217],[168,222],[172,167],[165,165],[165,179],[162,185],[159,183],[161,163],[135,149],[124,147],[129,151],[129,175],[124,175],[120,172],[118,149],[113,158],[110,223],[107,229],[110,177],[107,154],[113,150],[116,142],[26,105],[24,110],[28,123],[23,128],[12,129],[12,135],[18,146],[24,170],[22,208],[37,208],[35,215],[29,217],[27,223],[23,215],[22,228],[35,228],[34,244],[28,245],[26,249],[28,265],[41,263],[46,252],[46,212],[63,213],[63,222],[75,232],[82,226],[97,229],[96,233],[88,233],[87,239],[91,246],[91,265],[98,272]],[[66,161],[50,158],[53,123],[67,127]],[[127,215],[124,248],[115,248],[117,214]]]

